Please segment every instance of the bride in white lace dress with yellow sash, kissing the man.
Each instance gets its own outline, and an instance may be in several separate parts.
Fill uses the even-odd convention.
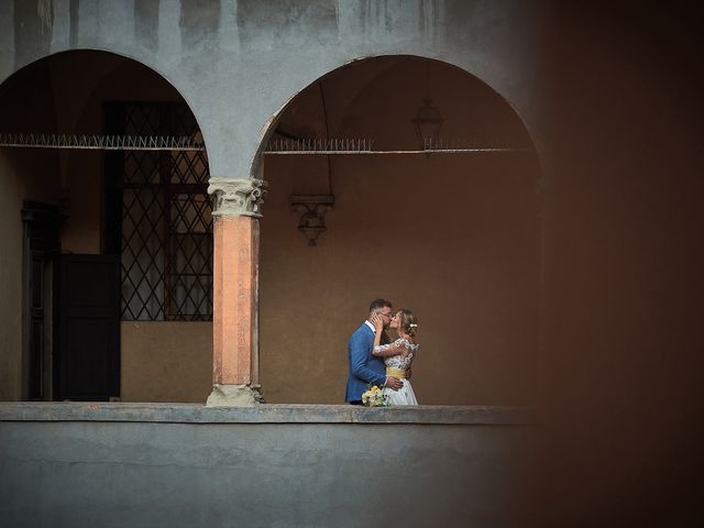
[[[384,319],[381,316],[374,315],[372,317],[372,323],[376,330],[374,336],[374,348],[372,354],[384,358],[384,364],[386,364],[386,375],[394,376],[399,380],[404,380],[404,386],[398,391],[393,391],[385,387],[383,391],[386,397],[386,403],[391,405],[418,405],[414,389],[410,386],[410,382],[406,377],[406,372],[410,369],[410,364],[414,358],[418,353],[420,346],[415,342],[416,331],[418,330],[418,322],[414,312],[402,308],[396,312],[391,320],[388,328],[396,330],[398,339],[393,343],[381,344],[382,336],[384,333]]]

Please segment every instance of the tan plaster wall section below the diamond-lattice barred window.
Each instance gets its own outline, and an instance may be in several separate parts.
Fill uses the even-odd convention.
[[[211,322],[123,321],[123,402],[205,402],[212,391]]]

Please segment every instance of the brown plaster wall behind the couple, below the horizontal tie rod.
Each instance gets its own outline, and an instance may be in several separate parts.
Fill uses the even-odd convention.
[[[405,187],[425,170],[442,174],[452,196],[433,201]],[[530,402],[539,248],[535,189],[520,161],[348,160],[337,174],[338,201],[317,248],[286,207],[292,180],[271,190],[260,319],[267,400],[341,402],[346,341],[369,302],[385,297],[420,319],[413,377],[420,402]],[[391,199],[399,188],[411,211],[400,220]]]

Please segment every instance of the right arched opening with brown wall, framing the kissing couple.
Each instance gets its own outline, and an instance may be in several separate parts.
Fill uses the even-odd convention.
[[[426,98],[441,129],[424,145],[414,119]],[[331,139],[337,153],[311,152]],[[440,148],[419,152],[429,146]],[[308,152],[267,152],[295,150]],[[540,167],[499,94],[438,61],[356,61],[289,101],[262,158],[267,402],[342,403],[348,339],[383,297],[420,320],[413,385],[421,404],[534,403]],[[318,232],[307,230],[311,211]]]

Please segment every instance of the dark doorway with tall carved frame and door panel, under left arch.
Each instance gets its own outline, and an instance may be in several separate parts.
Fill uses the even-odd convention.
[[[25,201],[24,399],[120,396],[120,260],[61,253],[56,206]]]

